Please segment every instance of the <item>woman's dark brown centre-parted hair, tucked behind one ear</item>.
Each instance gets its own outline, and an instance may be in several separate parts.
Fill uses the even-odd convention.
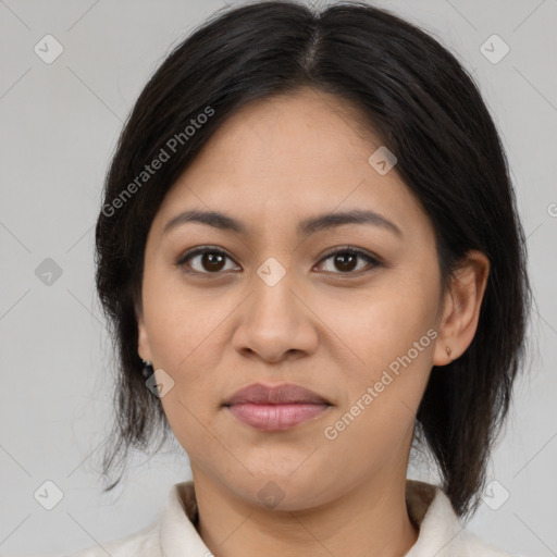
[[[396,154],[396,171],[434,225],[445,287],[468,250],[490,259],[475,336],[457,360],[433,368],[417,414],[418,438],[465,515],[478,504],[525,351],[525,239],[505,152],[471,76],[426,33],[360,2],[317,11],[270,1],[218,13],[141,91],[108,172],[96,228],[97,288],[117,352],[103,472],[119,457],[125,465],[131,447],[148,447],[159,428],[161,445],[170,433],[141,375],[135,314],[147,234],[165,194],[233,112],[300,87],[358,110]],[[147,173],[161,149],[170,158]]]

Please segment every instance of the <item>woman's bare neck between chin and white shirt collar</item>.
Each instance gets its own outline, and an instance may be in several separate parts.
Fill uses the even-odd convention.
[[[194,463],[191,471],[199,535],[216,557],[403,557],[418,539],[406,506],[406,473],[374,476],[324,505],[288,511],[239,498]]]

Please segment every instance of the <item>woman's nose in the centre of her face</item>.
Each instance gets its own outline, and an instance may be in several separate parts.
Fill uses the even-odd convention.
[[[276,284],[256,275],[251,294],[238,308],[234,348],[269,363],[314,352],[319,319],[304,298],[304,289],[295,284],[289,272]]]

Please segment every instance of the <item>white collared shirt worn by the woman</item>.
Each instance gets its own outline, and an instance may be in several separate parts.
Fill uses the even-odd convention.
[[[511,557],[465,530],[440,487],[407,480],[406,500],[420,532],[405,557]],[[196,515],[193,481],[176,483],[151,524],[67,557],[211,557],[196,530]]]

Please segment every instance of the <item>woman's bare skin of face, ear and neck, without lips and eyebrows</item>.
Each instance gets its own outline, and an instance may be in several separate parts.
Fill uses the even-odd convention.
[[[441,290],[432,223],[396,165],[381,174],[368,161],[381,145],[321,91],[251,102],[216,131],[152,222],[138,352],[172,381],[160,403],[189,457],[215,555],[403,555],[416,541],[405,506],[416,412],[432,366],[473,338],[488,260],[470,252]],[[191,209],[223,212],[248,233],[194,222],[163,232]],[[401,235],[372,224],[297,232],[305,219],[354,209]],[[203,246],[225,252],[220,270],[202,255],[176,264]],[[379,264],[358,257],[343,271],[327,251],[347,246]],[[272,285],[258,273],[269,258],[271,274],[283,273]],[[259,431],[222,407],[257,382],[298,384],[332,406],[289,430]],[[335,426],[358,400],[354,419]]]

